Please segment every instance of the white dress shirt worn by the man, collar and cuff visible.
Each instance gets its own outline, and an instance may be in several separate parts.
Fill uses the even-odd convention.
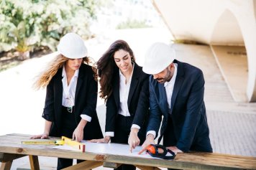
[[[165,86],[165,94],[166,94],[166,100],[168,103],[168,113],[170,113],[170,103],[172,102],[172,96],[173,96],[173,88],[174,88],[174,83],[177,77],[177,70],[178,70],[178,64],[177,63],[173,63],[174,65],[174,72],[173,72],[173,77],[170,79],[169,82],[165,82],[164,86]],[[148,134],[152,134],[155,138],[156,136],[156,132],[155,131],[148,131]]]

